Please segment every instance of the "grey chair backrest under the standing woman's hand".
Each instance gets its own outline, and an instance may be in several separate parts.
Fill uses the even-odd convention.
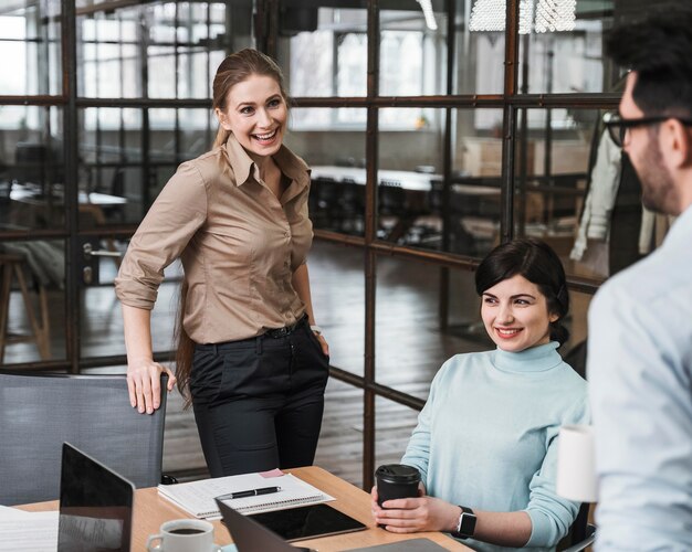
[[[166,391],[139,414],[125,375],[0,371],[0,505],[57,499],[65,440],[137,487],[158,485],[165,415]]]

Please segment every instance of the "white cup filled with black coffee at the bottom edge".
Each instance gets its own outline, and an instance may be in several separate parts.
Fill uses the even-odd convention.
[[[158,542],[157,542],[158,541]],[[155,544],[156,543],[156,544]],[[213,526],[198,519],[175,519],[164,523],[147,540],[149,552],[220,552],[213,543]]]

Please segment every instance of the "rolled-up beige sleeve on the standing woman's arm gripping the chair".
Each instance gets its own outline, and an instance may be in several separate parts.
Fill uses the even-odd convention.
[[[129,242],[115,293],[124,305],[154,308],[164,269],[207,219],[207,193],[193,162],[181,164],[161,190]]]

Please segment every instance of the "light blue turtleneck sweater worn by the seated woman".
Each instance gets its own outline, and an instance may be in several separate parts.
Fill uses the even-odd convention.
[[[420,470],[430,496],[479,510],[525,510],[533,524],[526,545],[544,549],[567,533],[579,508],[555,493],[558,428],[589,422],[586,382],[557,347],[452,357],[432,381],[401,459]]]

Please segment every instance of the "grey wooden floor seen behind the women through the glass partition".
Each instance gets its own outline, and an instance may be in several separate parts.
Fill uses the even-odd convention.
[[[327,243],[315,243],[310,258],[313,304],[318,323],[332,349],[332,363],[363,374],[364,280],[363,252]],[[108,274],[111,272],[111,274]],[[102,278],[113,276],[103,265]],[[421,263],[382,257],[377,265],[377,380],[424,399],[430,381],[449,357],[489,347],[478,326],[478,299],[470,273],[452,274],[450,331],[439,330],[439,269]],[[170,347],[176,284],[161,286],[153,316],[155,348]],[[13,296],[17,294],[13,294]],[[52,352],[64,357],[62,294],[51,293]],[[83,296],[83,357],[122,354],[123,328],[119,306],[112,287],[88,288]],[[25,316],[12,299],[11,329],[25,331]],[[10,346],[6,364],[38,360],[30,343]],[[109,367],[95,372],[122,372]],[[126,397],[123,397],[126,400]],[[390,401],[376,402],[377,464],[398,461],[416,424],[417,412]],[[168,401],[164,469],[185,477],[203,477],[205,461],[191,411],[171,393]],[[363,392],[343,382],[327,385],[323,428],[316,464],[360,486],[363,460]]]

